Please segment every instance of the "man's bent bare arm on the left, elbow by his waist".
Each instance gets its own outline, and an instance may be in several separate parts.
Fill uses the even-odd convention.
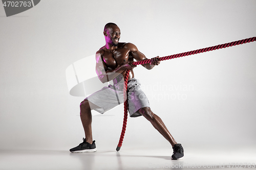
[[[134,65],[131,63],[126,63],[121,66],[117,66],[116,69],[109,69],[108,66],[106,66],[104,60],[102,59],[103,51],[99,50],[96,53],[96,73],[98,75],[99,80],[102,83],[109,82],[113,79],[115,79],[117,76],[122,74],[123,71],[126,69],[133,69]]]

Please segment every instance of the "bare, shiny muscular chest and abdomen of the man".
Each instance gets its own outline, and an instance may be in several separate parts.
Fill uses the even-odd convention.
[[[130,49],[125,47],[126,43],[119,43],[118,47],[114,51],[109,51],[104,46],[100,48],[103,51],[102,59],[106,65],[106,70],[114,70],[121,65],[133,61],[133,57],[130,55]],[[121,73],[125,76],[125,71]],[[129,79],[134,78],[133,70],[130,71]]]

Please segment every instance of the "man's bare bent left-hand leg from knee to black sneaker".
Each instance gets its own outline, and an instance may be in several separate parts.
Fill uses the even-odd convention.
[[[88,100],[84,100],[80,104],[80,118],[81,118],[83,130],[84,130],[84,134],[86,136],[86,141],[90,144],[93,143],[91,110],[96,107],[97,106],[92,103],[89,104]]]

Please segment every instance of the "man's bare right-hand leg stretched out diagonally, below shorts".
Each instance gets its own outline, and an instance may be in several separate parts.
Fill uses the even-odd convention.
[[[139,110],[140,114],[142,114],[147,120],[151,122],[151,124],[154,126],[158,132],[160,132],[165,139],[167,139],[170,144],[172,144],[172,147],[174,147],[174,144],[177,144],[173,136],[170,134],[168,129],[165,127],[162,119],[158,117],[156,114],[154,114],[149,107],[144,107]]]

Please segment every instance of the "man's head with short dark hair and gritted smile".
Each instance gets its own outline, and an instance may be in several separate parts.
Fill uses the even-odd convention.
[[[121,32],[119,27],[115,23],[112,23],[112,22],[107,23],[104,27],[103,34],[105,36],[106,43],[110,43],[114,46],[118,45]]]

